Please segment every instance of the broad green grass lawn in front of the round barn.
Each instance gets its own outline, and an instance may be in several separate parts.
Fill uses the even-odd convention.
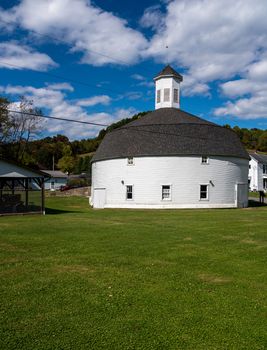
[[[267,207],[0,217],[0,349],[267,349]]]

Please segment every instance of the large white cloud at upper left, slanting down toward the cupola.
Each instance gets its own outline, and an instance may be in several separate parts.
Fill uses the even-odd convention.
[[[125,20],[89,0],[22,0],[8,15],[26,30],[64,40],[83,54],[83,63],[95,66],[135,63],[147,46]]]

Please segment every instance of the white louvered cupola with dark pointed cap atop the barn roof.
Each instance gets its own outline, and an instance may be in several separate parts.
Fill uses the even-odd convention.
[[[155,109],[180,108],[180,83],[182,81],[183,77],[169,65],[155,76]]]

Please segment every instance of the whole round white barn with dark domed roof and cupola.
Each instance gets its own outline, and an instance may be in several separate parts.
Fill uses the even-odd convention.
[[[170,66],[154,80],[156,110],[106,134],[93,157],[93,207],[246,207],[237,135],[179,109],[182,76]]]

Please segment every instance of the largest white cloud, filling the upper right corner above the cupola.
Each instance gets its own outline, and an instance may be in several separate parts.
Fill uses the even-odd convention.
[[[144,57],[186,69],[187,79],[200,84],[196,92],[242,74],[267,51],[266,0],[173,0],[166,10],[163,25],[151,23],[155,35]],[[146,10],[143,18],[153,18],[154,11]]]

